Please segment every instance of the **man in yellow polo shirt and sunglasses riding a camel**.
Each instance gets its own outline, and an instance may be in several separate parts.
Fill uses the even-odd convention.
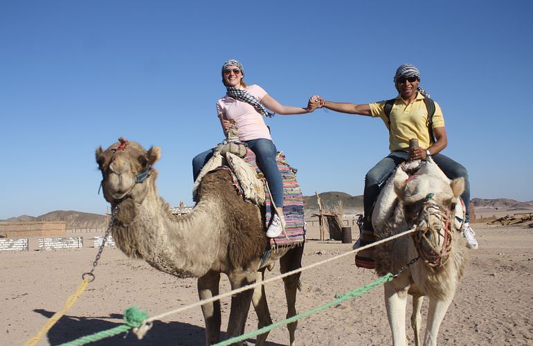
[[[389,129],[390,154],[374,165],[365,176],[363,192],[364,217],[359,238],[360,246],[374,242],[372,229],[372,207],[376,201],[380,185],[400,163],[408,160],[425,159],[431,155],[449,179],[464,178],[464,192],[461,195],[466,207],[466,215],[462,233],[468,241],[468,247],[478,248],[470,221],[470,183],[467,170],[448,156],[440,154],[448,144],[444,117],[437,102],[429,98],[429,94],[419,86],[420,73],[411,64],[403,64],[394,76],[395,88],[399,95],[392,100],[384,100],[370,104],[354,104],[331,102],[318,98],[314,107],[325,107],[341,113],[358,114],[361,116],[379,117]],[[311,99],[316,99],[314,95]],[[430,116],[431,114],[431,116]],[[419,146],[409,149],[409,139],[417,138]],[[374,268],[374,260],[364,253],[356,257],[357,266]]]

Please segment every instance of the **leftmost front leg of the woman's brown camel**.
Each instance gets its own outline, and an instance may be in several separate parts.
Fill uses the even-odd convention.
[[[219,293],[220,273],[209,271],[198,278],[198,295],[200,300],[209,299]],[[220,301],[210,302],[201,306],[206,322],[206,345],[220,342]]]

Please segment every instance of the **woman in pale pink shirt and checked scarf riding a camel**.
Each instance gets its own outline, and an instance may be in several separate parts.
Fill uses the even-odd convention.
[[[255,154],[256,162],[263,172],[271,192],[271,200],[275,204],[274,214],[271,219],[266,236],[275,238],[282,233],[283,219],[283,182],[275,156],[278,153],[263,116],[272,117],[274,113],[288,116],[311,112],[309,100],[307,108],[284,106],[266,93],[257,84],[244,83],[244,68],[237,60],[228,60],[222,66],[222,83],[226,86],[226,95],[217,101],[217,116],[224,129],[224,133],[235,122],[239,131],[239,139]],[[266,108],[265,108],[266,107]],[[206,164],[214,149],[210,149],[192,159],[192,175],[197,179],[202,167]]]

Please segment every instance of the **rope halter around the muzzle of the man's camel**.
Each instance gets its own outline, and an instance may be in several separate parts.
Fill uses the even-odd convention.
[[[422,260],[424,260],[429,266],[440,268],[449,258],[453,234],[451,231],[450,213],[446,210],[443,212],[440,206],[437,206],[436,203],[431,202],[431,198],[433,198],[433,194],[427,194],[421,211],[421,213],[426,215],[427,229],[422,230],[421,222],[419,222],[416,226],[417,232],[414,233],[412,237],[420,258],[422,258]],[[444,241],[442,242],[440,250],[437,249],[436,246],[433,246],[432,242],[425,235],[427,231],[440,233],[440,231],[435,231],[432,229],[431,218],[433,217],[436,217],[441,225],[444,224],[444,227],[441,228],[444,230]],[[424,246],[422,246],[422,242],[425,242],[431,247],[431,249],[427,250]]]

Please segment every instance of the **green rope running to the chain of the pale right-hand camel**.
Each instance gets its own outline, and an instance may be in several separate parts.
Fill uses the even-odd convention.
[[[324,309],[327,309],[328,307],[333,307],[334,305],[339,304],[340,302],[343,302],[345,300],[350,300],[352,298],[359,297],[359,295],[363,295],[364,293],[366,293],[366,292],[370,291],[371,289],[373,289],[375,286],[379,286],[380,284],[384,284],[386,282],[389,282],[390,280],[392,280],[393,277],[394,276],[391,273],[387,273],[386,275],[383,275],[382,277],[379,277],[378,280],[376,280],[374,282],[370,282],[370,284],[367,284],[365,286],[359,287],[357,289],[354,289],[354,290],[352,290],[350,292],[347,292],[347,293],[344,293],[344,294],[335,295],[335,298],[337,298],[337,299],[332,301],[332,302],[329,302],[329,303],[324,304],[324,305],[322,305],[320,307],[316,307],[314,309],[311,309],[311,310],[308,310],[308,311],[305,311],[305,312],[302,312],[302,313],[298,313],[298,315],[292,316],[291,318],[287,318],[285,320],[280,320],[280,321],[275,322],[275,323],[273,323],[271,325],[267,325],[266,327],[262,327],[261,329],[257,329],[255,331],[251,331],[248,334],[242,334],[240,336],[235,336],[233,338],[229,338],[228,340],[224,340],[221,343],[217,343],[217,344],[215,344],[213,346],[231,345],[233,343],[237,343],[239,341],[246,340],[247,338],[251,338],[252,336],[258,336],[260,334],[266,333],[266,331],[271,331],[272,329],[277,328],[277,327],[281,327],[282,325],[288,325],[291,322],[294,322],[296,320],[300,320],[301,318],[304,318],[304,317],[307,317],[307,316],[311,316],[312,314],[317,313],[319,311],[322,311]]]

